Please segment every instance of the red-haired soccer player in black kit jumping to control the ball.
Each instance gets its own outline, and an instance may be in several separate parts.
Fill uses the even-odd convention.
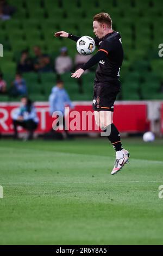
[[[113,124],[114,102],[120,92],[120,68],[123,62],[121,36],[112,30],[112,20],[108,13],[99,13],[93,17],[93,33],[95,33],[98,52],[72,73],[71,77],[79,78],[86,69],[98,63],[93,91],[93,110],[95,120],[104,131],[116,151],[116,161],[111,174],[116,174],[128,162],[129,152],[122,148],[120,133]],[[79,36],[60,31],[54,34],[78,41]],[[108,131],[109,134],[108,134]]]

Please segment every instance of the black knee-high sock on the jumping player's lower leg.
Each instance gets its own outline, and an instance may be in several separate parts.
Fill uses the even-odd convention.
[[[122,144],[121,144],[121,137],[120,133],[118,132],[116,126],[114,124],[108,125],[106,127],[106,130],[110,130],[110,135],[108,136],[109,141],[111,142],[112,146],[114,147],[115,151],[122,150]]]

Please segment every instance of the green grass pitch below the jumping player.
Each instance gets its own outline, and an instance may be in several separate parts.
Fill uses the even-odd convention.
[[[0,141],[1,245],[162,245],[163,141]]]

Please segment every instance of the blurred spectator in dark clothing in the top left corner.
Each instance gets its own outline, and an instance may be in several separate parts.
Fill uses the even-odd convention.
[[[0,0],[0,20],[9,20],[16,8],[9,5],[6,0]]]

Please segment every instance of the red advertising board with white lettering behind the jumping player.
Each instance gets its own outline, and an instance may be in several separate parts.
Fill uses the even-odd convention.
[[[19,103],[0,103],[0,131],[12,133],[12,114],[19,107]],[[49,115],[48,102],[36,102],[35,107],[39,117],[37,133],[44,133],[52,129],[53,121]],[[68,111],[68,108],[67,108]],[[72,132],[98,132],[92,115],[91,102],[74,102],[74,108],[67,112],[66,120]],[[163,111],[162,111],[163,112]],[[86,118],[83,121],[83,117]],[[77,119],[78,116],[78,119]],[[162,115],[163,116],[163,115]],[[89,121],[92,119],[92,126]],[[114,123],[120,132],[144,132],[147,130],[147,105],[146,102],[117,102],[115,104]],[[73,124],[73,126],[72,126]],[[20,132],[22,129],[20,128]]]

